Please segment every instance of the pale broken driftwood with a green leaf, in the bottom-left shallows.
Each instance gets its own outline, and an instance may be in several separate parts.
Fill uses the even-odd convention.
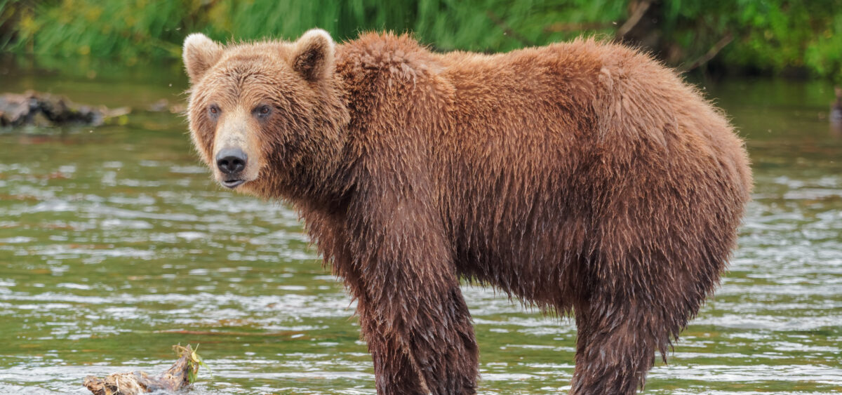
[[[145,371],[114,373],[104,379],[87,376],[83,386],[88,387],[94,395],[137,395],[147,392],[176,392],[189,388],[195,382],[199,366],[205,366],[205,363],[189,345],[176,345],[173,346],[173,350],[181,353],[181,357],[161,376],[152,377]]]

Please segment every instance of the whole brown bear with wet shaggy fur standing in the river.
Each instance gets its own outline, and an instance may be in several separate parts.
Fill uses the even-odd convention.
[[[633,393],[717,286],[752,187],[694,88],[623,45],[497,55],[408,35],[184,41],[195,147],[296,207],[357,300],[382,394],[477,391],[460,280],[578,327],[571,393]]]

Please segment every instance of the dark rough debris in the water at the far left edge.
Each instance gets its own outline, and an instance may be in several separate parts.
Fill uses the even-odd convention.
[[[97,126],[109,118],[126,115],[130,111],[128,107],[108,109],[102,105],[76,104],[51,93],[27,91],[23,94],[0,94],[0,126]]]

